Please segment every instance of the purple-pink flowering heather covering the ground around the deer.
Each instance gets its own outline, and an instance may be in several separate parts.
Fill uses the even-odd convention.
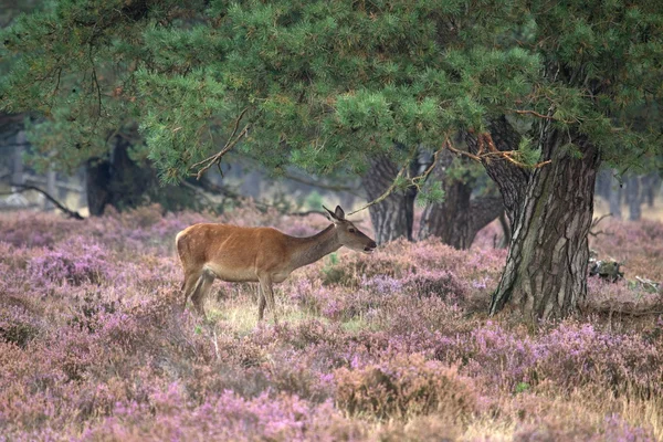
[[[602,225],[591,245],[625,278],[590,278],[562,322],[485,315],[506,256],[491,227],[470,251],[341,250],[256,326],[252,284],[217,282],[207,323],[173,308],[173,238],[201,221],[327,223],[251,206],[0,215],[0,440],[663,439],[663,299],[635,280],[663,274],[660,223]]]

